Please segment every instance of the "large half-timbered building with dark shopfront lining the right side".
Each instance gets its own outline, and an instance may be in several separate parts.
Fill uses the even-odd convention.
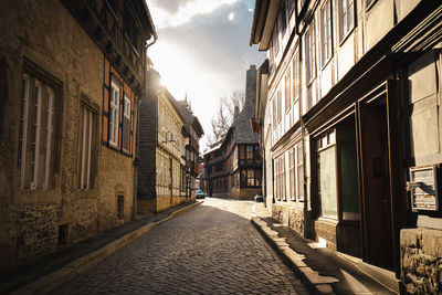
[[[425,0],[257,0],[252,24],[269,57],[254,122],[273,166],[269,208],[380,266],[397,292],[441,292],[441,12]]]

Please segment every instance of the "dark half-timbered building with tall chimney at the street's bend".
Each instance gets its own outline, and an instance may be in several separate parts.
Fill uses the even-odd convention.
[[[246,71],[243,109],[235,109],[233,124],[225,136],[204,152],[204,189],[210,196],[253,199],[261,194],[259,136],[250,125],[255,96],[256,67],[251,65]]]

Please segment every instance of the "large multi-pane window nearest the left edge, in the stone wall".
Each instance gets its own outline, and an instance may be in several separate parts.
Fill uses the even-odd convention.
[[[50,189],[54,186],[56,143],[60,118],[55,92],[36,77],[23,74],[20,110],[20,188]]]

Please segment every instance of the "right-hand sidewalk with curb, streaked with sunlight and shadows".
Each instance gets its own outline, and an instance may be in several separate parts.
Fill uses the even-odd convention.
[[[367,272],[361,260],[320,247],[314,241],[302,238],[288,226],[283,226],[269,214],[263,203],[256,203],[256,217],[252,224],[277,252],[280,257],[314,294],[397,294],[376,281]],[[365,265],[365,266],[362,266]],[[362,271],[364,270],[364,271]],[[383,270],[376,270],[382,272]],[[385,271],[383,271],[385,272]],[[387,274],[386,277],[388,277]],[[391,286],[397,280],[388,277]],[[388,284],[392,283],[392,284]]]

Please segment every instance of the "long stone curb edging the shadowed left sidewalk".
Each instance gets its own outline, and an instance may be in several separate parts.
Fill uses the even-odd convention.
[[[90,254],[86,254],[85,256],[77,259],[62,268],[52,272],[43,277],[40,277],[39,280],[13,291],[10,293],[11,295],[31,295],[31,294],[50,294],[52,291],[61,287],[65,283],[74,280],[76,276],[80,274],[88,271],[90,268],[94,267],[97,265],[99,262],[106,260],[108,256],[117,252],[119,249],[126,246],[134,240],[138,239],[146,232],[150,231],[155,226],[161,224],[162,222],[166,222],[176,215],[179,215],[186,211],[189,211],[190,209],[201,204],[202,201],[194,202],[192,204],[189,204],[185,208],[178,209],[173,212],[171,212],[168,217],[155,221],[151,223],[148,223],[133,232],[129,232],[122,238],[108,243],[107,245],[91,252]]]

